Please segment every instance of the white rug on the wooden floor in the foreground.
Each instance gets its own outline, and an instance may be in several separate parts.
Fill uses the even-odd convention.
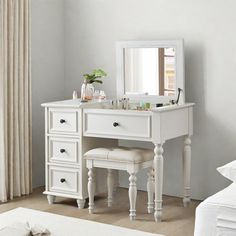
[[[14,222],[42,225],[52,236],[163,236],[26,208],[0,214],[0,228]]]

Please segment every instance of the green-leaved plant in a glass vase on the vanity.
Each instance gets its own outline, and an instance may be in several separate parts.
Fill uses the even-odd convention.
[[[101,78],[106,77],[107,73],[101,69],[95,69],[91,74],[84,74],[84,82],[81,87],[81,100],[88,101],[92,100],[94,93],[93,83],[102,84]]]

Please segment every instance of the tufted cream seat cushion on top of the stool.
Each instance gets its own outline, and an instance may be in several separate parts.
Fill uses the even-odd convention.
[[[84,154],[86,159],[100,159],[129,163],[150,161],[154,157],[153,150],[143,148],[95,148]]]

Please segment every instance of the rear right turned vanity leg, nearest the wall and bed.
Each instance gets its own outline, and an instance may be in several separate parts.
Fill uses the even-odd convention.
[[[184,177],[184,197],[183,204],[187,207],[190,204],[190,175],[191,175],[191,139],[187,136],[184,139],[183,150],[183,177]]]

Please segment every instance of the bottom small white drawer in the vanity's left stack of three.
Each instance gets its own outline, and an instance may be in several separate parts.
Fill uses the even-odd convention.
[[[79,193],[79,170],[49,166],[49,191]]]

